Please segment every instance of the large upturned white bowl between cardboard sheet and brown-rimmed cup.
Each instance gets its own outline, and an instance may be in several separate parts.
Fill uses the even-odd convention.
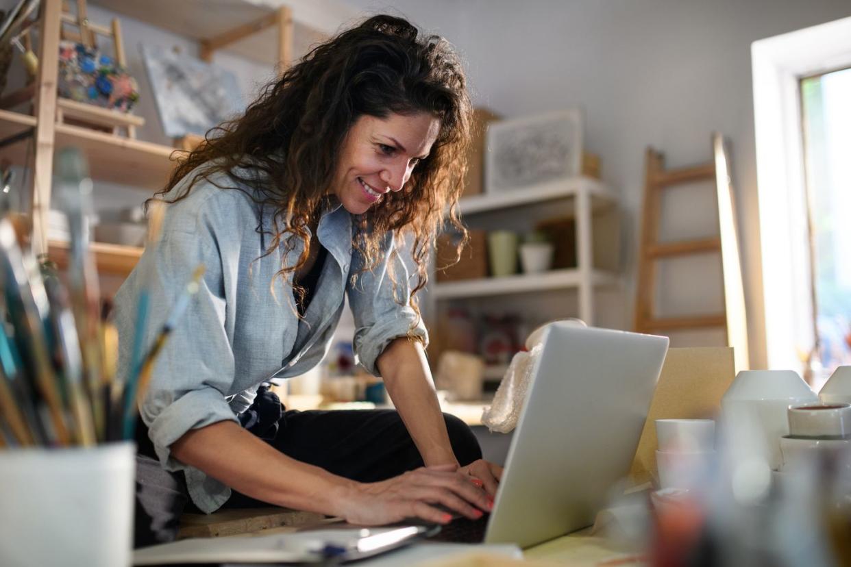
[[[740,371],[721,399],[722,439],[751,442],[769,467],[780,468],[780,437],[789,434],[789,406],[818,401],[796,371]]]

